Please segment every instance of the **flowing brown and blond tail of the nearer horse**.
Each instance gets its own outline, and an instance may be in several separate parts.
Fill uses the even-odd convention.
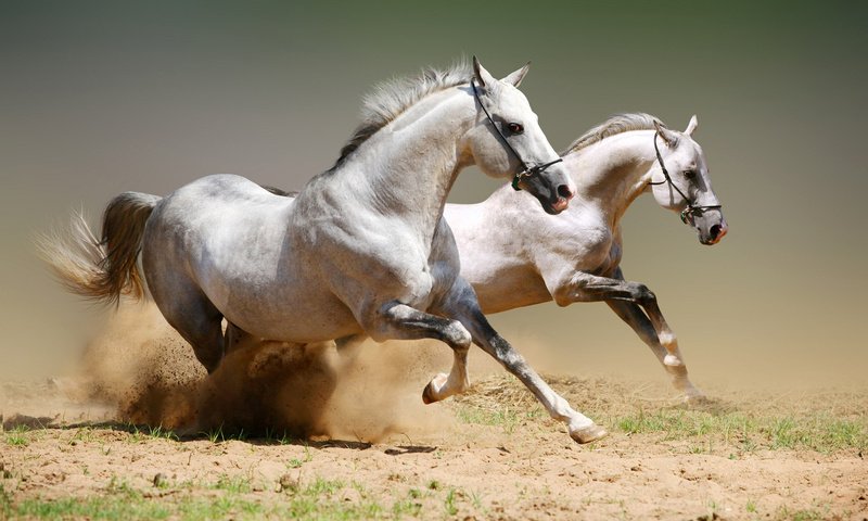
[[[67,230],[37,238],[39,254],[58,280],[77,295],[114,304],[120,295],[141,300],[144,287],[138,257],[144,225],[159,200],[139,192],[113,199],[103,213],[102,240],[93,237],[76,212]]]

